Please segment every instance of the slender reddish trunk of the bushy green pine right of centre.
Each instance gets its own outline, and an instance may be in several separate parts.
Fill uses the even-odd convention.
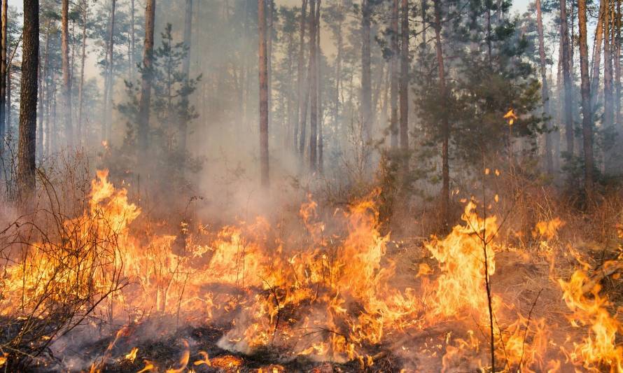
[[[435,44],[437,48],[437,72],[439,73],[439,96],[441,99],[446,97],[446,81],[444,71],[444,57],[441,45],[441,9],[440,0],[434,0],[435,8]],[[449,137],[450,126],[445,113],[442,113],[441,120],[442,133],[442,188],[441,188],[441,218],[442,228],[447,231],[449,228],[449,204],[450,204],[450,167],[449,167]]]

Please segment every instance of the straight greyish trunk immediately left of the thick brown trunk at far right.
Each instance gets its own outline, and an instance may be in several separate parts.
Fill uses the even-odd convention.
[[[573,157],[573,81],[571,80],[571,62],[569,48],[569,30],[567,27],[566,0],[560,0],[560,34],[562,43],[562,67],[564,82],[564,124],[566,137],[566,152]]]

